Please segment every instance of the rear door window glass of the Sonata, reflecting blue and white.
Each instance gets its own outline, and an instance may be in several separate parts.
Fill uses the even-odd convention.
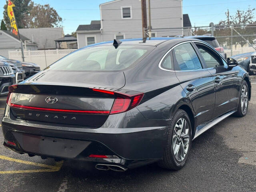
[[[202,69],[202,64],[190,43],[185,43],[174,48],[174,56],[180,70]]]

